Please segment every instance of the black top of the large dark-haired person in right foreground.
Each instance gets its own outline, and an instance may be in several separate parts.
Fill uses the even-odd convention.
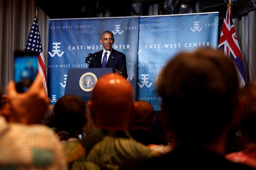
[[[159,157],[125,162],[120,170],[253,170],[241,163],[233,163],[224,156],[196,145],[180,146]]]

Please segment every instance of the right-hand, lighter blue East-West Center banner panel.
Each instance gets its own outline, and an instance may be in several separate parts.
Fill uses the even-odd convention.
[[[155,85],[161,69],[179,51],[217,48],[218,19],[218,12],[140,17],[136,101],[148,101],[159,111]]]

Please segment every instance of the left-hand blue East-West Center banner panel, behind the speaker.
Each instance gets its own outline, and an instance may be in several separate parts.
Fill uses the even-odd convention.
[[[88,54],[103,49],[99,40],[106,30],[114,34],[113,48],[126,55],[127,80],[132,83],[135,93],[138,22],[138,17],[50,19],[48,96],[51,103],[54,105],[64,95],[68,69],[88,68],[89,64],[85,63]]]

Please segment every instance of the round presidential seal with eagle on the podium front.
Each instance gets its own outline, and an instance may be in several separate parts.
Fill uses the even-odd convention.
[[[94,89],[94,85],[97,83],[98,79],[95,74],[91,72],[84,73],[79,80],[80,88],[83,91],[92,91]]]

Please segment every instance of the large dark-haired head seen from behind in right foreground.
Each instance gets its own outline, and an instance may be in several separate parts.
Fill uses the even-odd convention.
[[[222,51],[180,52],[157,82],[165,123],[180,142],[210,142],[230,123],[238,105],[236,67]]]

